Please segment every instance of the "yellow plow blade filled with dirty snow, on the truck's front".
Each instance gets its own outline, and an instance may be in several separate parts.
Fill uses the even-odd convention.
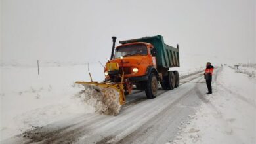
[[[106,82],[75,82],[85,87],[87,103],[104,115],[118,115],[125,104],[123,84]]]

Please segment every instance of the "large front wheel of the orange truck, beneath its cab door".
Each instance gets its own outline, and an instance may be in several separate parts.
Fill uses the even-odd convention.
[[[156,79],[154,73],[151,73],[148,77],[145,92],[148,99],[156,98],[156,95],[158,94],[158,79]]]

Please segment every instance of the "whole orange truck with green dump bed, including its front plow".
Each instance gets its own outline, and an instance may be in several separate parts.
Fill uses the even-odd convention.
[[[116,48],[116,37],[112,37],[112,41],[111,56],[104,67],[105,80],[76,82],[85,89],[93,86],[95,91],[91,96],[105,105],[101,113],[117,115],[125,104],[125,96],[134,88],[144,90],[148,99],[154,99],[158,95],[158,84],[163,90],[179,86],[178,71],[169,70],[180,65],[178,44],[176,48],[166,45],[161,35],[119,41],[121,45]]]

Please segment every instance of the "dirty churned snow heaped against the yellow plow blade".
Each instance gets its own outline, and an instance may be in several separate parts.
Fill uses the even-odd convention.
[[[103,88],[100,86],[83,85],[85,90],[79,92],[82,101],[95,108],[96,113],[104,115],[117,115],[121,109],[119,103],[119,92],[114,88]]]

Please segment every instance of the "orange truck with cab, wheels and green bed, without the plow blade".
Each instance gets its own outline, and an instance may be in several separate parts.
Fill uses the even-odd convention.
[[[170,67],[179,67],[179,45],[168,46],[157,35],[119,41],[122,45],[115,49],[116,37],[112,39],[112,53],[104,69],[105,82],[123,82],[125,94],[131,94],[133,88],[145,90],[150,99],[157,96],[158,83],[164,90],[179,86],[178,71],[169,71]]]

